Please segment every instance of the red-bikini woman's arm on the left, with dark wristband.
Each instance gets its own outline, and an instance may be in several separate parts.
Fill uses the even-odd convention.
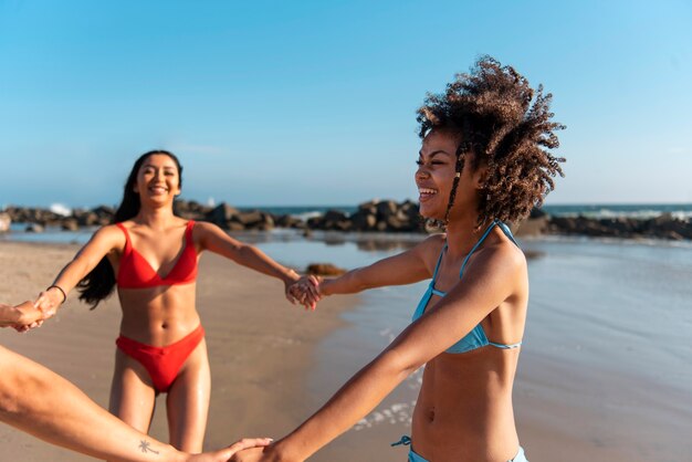
[[[125,237],[115,225],[99,229],[74,259],[62,269],[51,286],[41,292],[35,306],[46,317],[55,314],[57,307],[67,298],[67,294],[84,279],[109,252],[122,248]]]

